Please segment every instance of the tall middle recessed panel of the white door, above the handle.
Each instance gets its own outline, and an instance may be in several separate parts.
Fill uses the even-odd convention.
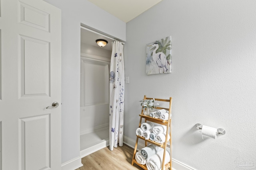
[[[20,35],[20,94],[50,96],[50,43]]]

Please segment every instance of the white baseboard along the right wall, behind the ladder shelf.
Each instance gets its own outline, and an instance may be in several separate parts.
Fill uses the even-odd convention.
[[[142,142],[143,143],[140,143],[140,140],[138,141],[137,150],[140,150],[145,147],[145,142],[144,141]],[[135,143],[136,141],[134,141],[133,139],[124,136],[124,144],[134,148]],[[172,158],[172,170],[195,170],[195,169]]]

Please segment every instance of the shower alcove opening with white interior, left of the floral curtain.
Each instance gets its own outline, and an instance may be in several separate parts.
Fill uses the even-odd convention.
[[[108,44],[99,47],[96,39]],[[81,28],[80,156],[109,145],[109,68],[111,39]]]

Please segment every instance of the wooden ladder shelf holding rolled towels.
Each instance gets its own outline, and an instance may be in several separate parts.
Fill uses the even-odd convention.
[[[150,100],[150,99],[153,99],[153,98],[147,98],[146,95],[144,96],[144,100]],[[147,146],[147,142],[149,143],[152,143],[158,147],[161,147],[164,149],[164,155],[163,155],[163,161],[162,161],[162,168],[161,170],[167,170],[168,168],[170,168],[170,170],[172,170],[172,135],[171,135],[171,109],[172,109],[172,98],[170,97],[170,99],[157,99],[157,98],[154,98],[154,100],[156,101],[161,101],[161,102],[169,102],[169,108],[164,108],[164,107],[156,107],[156,109],[166,109],[167,111],[169,111],[169,117],[168,117],[168,120],[161,120],[161,119],[157,119],[157,118],[153,118],[153,117],[150,117],[150,116],[147,116],[147,115],[144,115],[144,109],[143,109],[143,106],[142,106],[142,110],[141,110],[141,114],[139,115],[140,116],[140,123],[139,123],[139,127],[140,125],[142,124],[141,121],[142,121],[142,118],[146,121],[151,121],[151,122],[154,122],[154,123],[158,123],[158,124],[161,124],[161,125],[165,125],[167,128],[166,128],[166,139],[165,139],[165,142],[164,143],[156,143],[154,141],[151,141],[151,140],[146,140],[144,137],[140,137],[138,135],[137,136],[137,139],[136,139],[136,143],[135,143],[135,147],[134,147],[134,153],[133,153],[133,157],[132,157],[132,165],[135,163],[137,164],[138,166],[142,167],[144,170],[147,170],[147,167],[146,167],[146,164],[145,165],[142,165],[142,164],[139,164],[136,159],[135,159],[135,155],[136,155],[136,151],[137,151],[137,146],[138,146],[138,139],[142,139],[145,141],[145,147]],[[170,131],[169,131],[170,130]],[[170,162],[168,162],[167,164],[163,164],[164,162],[164,159],[165,159],[165,154],[166,154],[166,147],[167,147],[167,143],[168,143],[168,133],[170,135]]]

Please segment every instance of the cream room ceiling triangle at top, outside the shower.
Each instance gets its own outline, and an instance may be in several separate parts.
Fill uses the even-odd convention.
[[[88,0],[124,22],[134,19],[162,0]]]

